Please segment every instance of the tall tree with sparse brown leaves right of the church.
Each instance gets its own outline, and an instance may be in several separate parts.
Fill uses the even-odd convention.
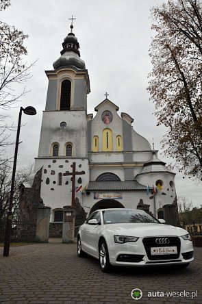
[[[148,90],[157,125],[168,131],[166,155],[191,176],[202,173],[202,3],[168,0],[151,9],[156,35],[149,55],[153,71]]]

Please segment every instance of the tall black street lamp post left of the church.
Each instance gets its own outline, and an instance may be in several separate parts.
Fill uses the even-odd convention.
[[[16,147],[15,147],[14,162],[13,162],[13,168],[12,168],[10,201],[9,201],[8,214],[7,214],[7,220],[6,220],[6,226],[5,226],[5,240],[4,240],[3,257],[8,257],[9,249],[10,249],[10,236],[11,236],[11,229],[12,229],[12,201],[13,201],[13,194],[14,194],[14,181],[15,181],[15,174],[16,174],[16,162],[17,162],[17,156],[18,156],[18,144],[19,144],[19,136],[20,136],[20,129],[21,129],[22,111],[27,115],[36,115],[36,109],[34,107],[28,106],[28,107],[25,107],[25,109],[23,109],[23,107],[21,107],[19,116],[18,116]]]

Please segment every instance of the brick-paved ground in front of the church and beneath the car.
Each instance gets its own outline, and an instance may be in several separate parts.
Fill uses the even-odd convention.
[[[1,304],[202,303],[202,248],[195,248],[195,260],[184,270],[115,268],[110,274],[101,272],[96,259],[78,258],[76,244],[55,240],[11,247],[10,257],[2,255],[0,248]],[[142,290],[142,299],[131,298],[134,288]],[[184,290],[197,290],[197,296],[162,296]]]

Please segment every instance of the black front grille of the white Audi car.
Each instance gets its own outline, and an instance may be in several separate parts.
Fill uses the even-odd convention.
[[[155,240],[157,238],[168,238],[169,244],[156,244]],[[143,238],[144,249],[147,252],[147,257],[151,260],[160,259],[177,259],[180,253],[180,240],[177,236],[155,236],[152,238]],[[169,247],[177,246],[177,254],[172,255],[151,255],[151,247]]]

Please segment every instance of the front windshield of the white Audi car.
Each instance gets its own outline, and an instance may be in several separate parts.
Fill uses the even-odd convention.
[[[141,210],[105,210],[103,223],[160,223],[158,220]]]

